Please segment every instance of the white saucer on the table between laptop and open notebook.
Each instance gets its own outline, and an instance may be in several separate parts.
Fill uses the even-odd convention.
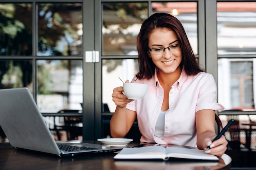
[[[126,146],[131,141],[133,141],[133,139],[103,138],[103,139],[97,139],[97,141],[100,141],[102,144],[107,145],[107,146]]]

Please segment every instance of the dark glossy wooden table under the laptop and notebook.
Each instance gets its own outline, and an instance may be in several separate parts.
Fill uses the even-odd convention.
[[[135,144],[129,144],[132,147]],[[114,161],[116,153],[101,153],[60,158],[40,152],[17,150],[9,143],[0,143],[0,170],[218,170],[229,169],[231,158],[223,155],[219,162],[186,160]]]

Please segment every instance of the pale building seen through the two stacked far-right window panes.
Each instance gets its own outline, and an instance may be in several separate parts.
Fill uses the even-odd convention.
[[[217,3],[218,102],[225,109],[255,110],[255,2]],[[228,58],[225,58],[225,56]]]

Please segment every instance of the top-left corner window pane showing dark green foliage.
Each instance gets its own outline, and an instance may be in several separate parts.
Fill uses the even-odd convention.
[[[32,4],[0,4],[0,55],[32,55]]]

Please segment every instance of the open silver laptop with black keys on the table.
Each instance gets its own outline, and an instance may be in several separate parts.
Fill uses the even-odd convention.
[[[122,149],[81,141],[55,141],[28,88],[0,90],[0,126],[11,146],[59,157]]]

